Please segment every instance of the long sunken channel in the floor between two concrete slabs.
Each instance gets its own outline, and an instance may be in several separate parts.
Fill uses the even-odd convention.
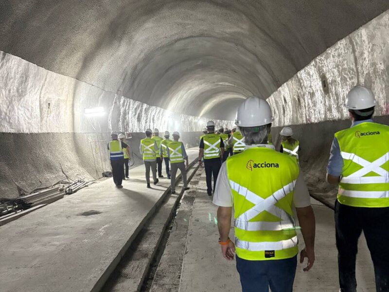
[[[192,164],[187,170],[188,184],[191,189],[182,189],[182,179],[178,180],[177,194],[169,194],[154,216],[145,224],[139,235],[122,257],[121,262],[110,275],[103,292],[148,292],[157,271],[159,260],[164,252],[170,232],[174,228],[177,212],[183,198],[195,192],[198,183],[195,177],[198,165]],[[196,176],[197,177],[197,176]]]

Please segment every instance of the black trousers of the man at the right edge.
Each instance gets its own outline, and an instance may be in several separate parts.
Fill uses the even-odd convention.
[[[374,266],[377,292],[389,292],[389,207],[362,208],[335,202],[336,247],[341,292],[356,292],[355,258],[362,231]]]

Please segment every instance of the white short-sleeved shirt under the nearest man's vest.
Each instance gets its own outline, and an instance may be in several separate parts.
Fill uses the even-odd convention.
[[[251,148],[252,146],[251,147],[246,146],[246,147]],[[311,198],[309,196],[308,188],[304,182],[304,177],[301,171],[299,173],[299,177],[297,178],[296,185],[294,188],[293,202],[295,207],[297,208],[308,207],[311,205]],[[222,164],[222,167],[220,168],[219,171],[219,175],[217,177],[216,188],[213,194],[213,204],[220,207],[232,207],[233,205],[233,198],[232,198],[229,179],[227,176],[226,163]]]

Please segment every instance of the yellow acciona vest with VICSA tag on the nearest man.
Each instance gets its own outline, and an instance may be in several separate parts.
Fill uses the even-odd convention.
[[[227,160],[233,195],[235,250],[247,260],[296,256],[293,191],[299,176],[294,157],[272,148],[249,148]]]

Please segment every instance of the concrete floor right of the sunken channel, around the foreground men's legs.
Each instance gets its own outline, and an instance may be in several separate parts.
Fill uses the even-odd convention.
[[[235,261],[225,260],[217,244],[216,207],[206,194],[205,177],[198,185],[189,236],[182,268],[180,292],[241,291]],[[317,231],[316,262],[309,272],[297,267],[294,291],[338,291],[337,251],[335,245],[334,212],[312,199]],[[230,236],[233,236],[233,229]],[[300,250],[303,239],[299,233]],[[306,264],[306,263],[305,263]],[[357,256],[358,292],[375,291],[373,268],[364,237],[360,238]]]

